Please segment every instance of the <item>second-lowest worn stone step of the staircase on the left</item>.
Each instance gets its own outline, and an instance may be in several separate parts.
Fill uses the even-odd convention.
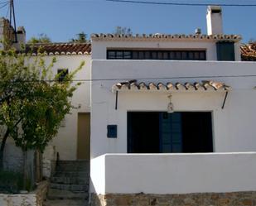
[[[88,199],[89,195],[87,192],[75,193],[70,190],[62,189],[49,189],[47,194],[47,199]]]

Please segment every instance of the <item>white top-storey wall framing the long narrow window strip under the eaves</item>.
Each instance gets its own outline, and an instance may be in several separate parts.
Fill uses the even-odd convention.
[[[206,50],[206,60],[217,60],[216,41],[93,41],[92,59],[106,60],[107,49]],[[239,43],[234,44],[235,60],[241,60]]]

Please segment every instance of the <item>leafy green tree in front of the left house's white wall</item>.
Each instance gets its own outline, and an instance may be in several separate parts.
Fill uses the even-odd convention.
[[[22,148],[23,154],[28,150],[44,151],[73,108],[70,98],[80,83],[72,83],[72,79],[85,62],[61,83],[57,80],[61,73],[52,74],[55,62],[53,58],[46,65],[43,55],[0,52],[0,169],[8,137]]]

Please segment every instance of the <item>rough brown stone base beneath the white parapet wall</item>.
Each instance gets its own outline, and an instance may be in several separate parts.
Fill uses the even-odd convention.
[[[91,206],[255,206],[256,192],[205,194],[91,194]]]

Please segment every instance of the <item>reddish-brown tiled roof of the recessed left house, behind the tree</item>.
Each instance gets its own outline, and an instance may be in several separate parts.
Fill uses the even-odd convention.
[[[34,55],[38,52],[46,55],[89,55],[91,52],[90,43],[27,44],[26,47],[26,52],[31,51]]]

